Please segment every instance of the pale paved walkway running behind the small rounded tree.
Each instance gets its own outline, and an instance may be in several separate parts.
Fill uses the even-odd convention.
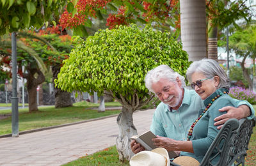
[[[154,109],[133,114],[138,133],[150,128]],[[19,137],[0,139],[0,165],[62,165],[115,145],[116,117],[108,117]]]

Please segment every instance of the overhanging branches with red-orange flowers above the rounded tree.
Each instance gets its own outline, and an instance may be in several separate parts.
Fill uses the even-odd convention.
[[[154,22],[164,29],[170,29],[168,26],[176,29],[180,27],[179,0],[79,0],[77,3],[70,1],[61,15],[60,26],[63,29],[74,29],[74,33],[79,36],[86,36],[86,27],[92,26],[92,19],[102,20],[106,15],[106,26],[109,29],[134,22]]]

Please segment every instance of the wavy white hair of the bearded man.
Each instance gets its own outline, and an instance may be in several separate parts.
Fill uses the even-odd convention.
[[[185,86],[185,78],[177,72],[174,72],[172,68],[167,65],[160,65],[150,70],[145,77],[145,85],[149,91],[154,93],[152,84],[158,82],[160,79],[168,79],[172,82],[177,83],[177,77],[179,77],[182,87]]]

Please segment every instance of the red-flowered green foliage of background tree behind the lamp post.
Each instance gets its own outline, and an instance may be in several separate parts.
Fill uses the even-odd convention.
[[[31,64],[33,68],[37,68],[39,64],[36,64],[36,58],[37,61],[40,61],[40,63],[46,66],[51,66],[52,64],[62,65],[63,59],[68,58],[68,54],[73,48],[73,45],[71,43],[71,36],[68,34],[59,34],[60,29],[58,26],[48,27],[47,29],[38,31],[38,33],[32,33],[31,31],[19,32],[17,35],[17,64],[19,66],[18,74],[21,77],[22,66]],[[10,38],[2,39],[0,43],[8,43],[8,45],[1,45],[0,55],[2,56],[1,63],[11,68]],[[31,54],[35,54],[34,58],[31,58]]]

